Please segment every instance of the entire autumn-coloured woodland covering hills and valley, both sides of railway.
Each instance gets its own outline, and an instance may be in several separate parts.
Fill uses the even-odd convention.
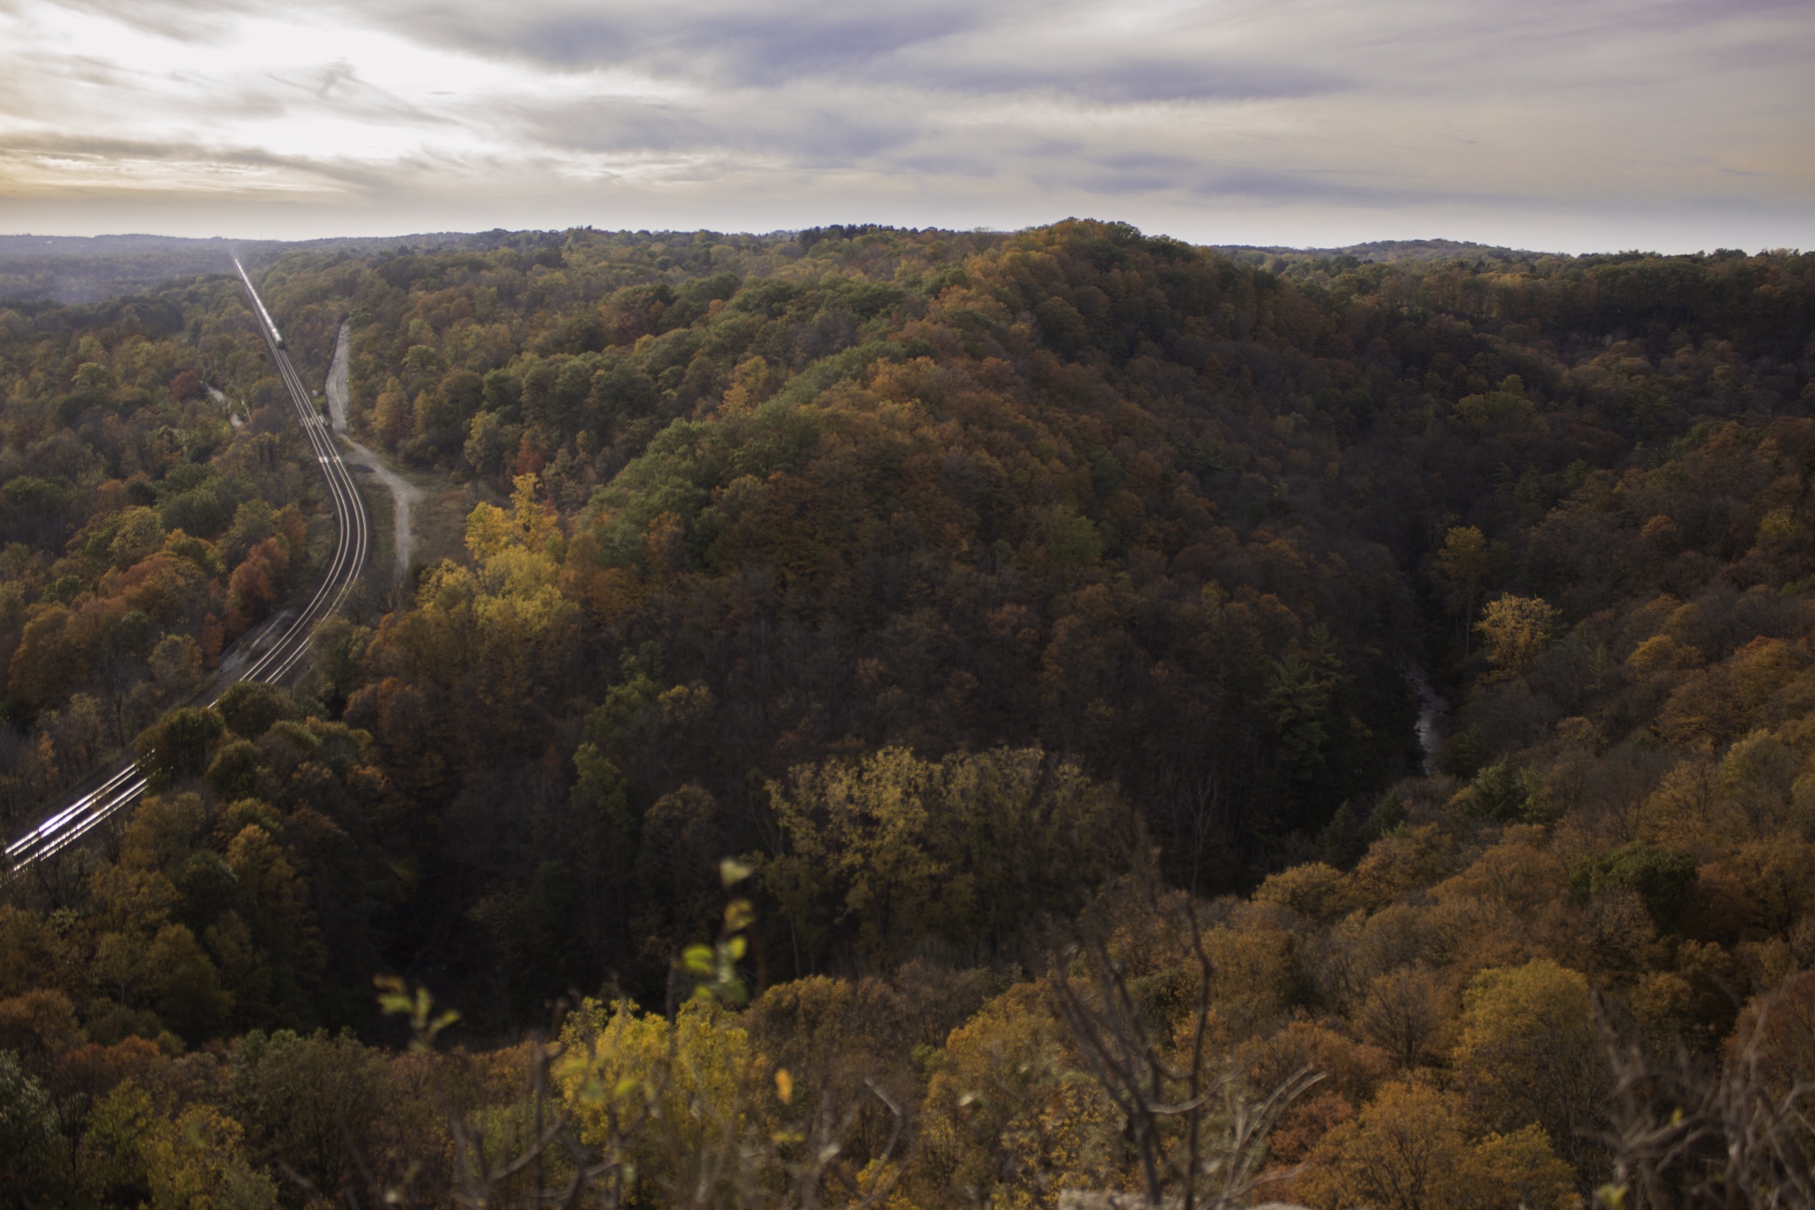
[[[7,834],[156,786],[0,1197],[1815,1197],[1815,256],[1443,252],[283,254],[466,553],[207,709],[329,541],[243,299],[0,308]]]

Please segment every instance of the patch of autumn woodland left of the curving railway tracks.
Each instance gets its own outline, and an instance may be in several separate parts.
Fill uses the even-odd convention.
[[[283,386],[225,279],[0,310],[0,822],[13,838],[312,577]]]

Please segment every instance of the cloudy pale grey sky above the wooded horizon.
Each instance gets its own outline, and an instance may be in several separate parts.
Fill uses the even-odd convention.
[[[0,0],[0,232],[1815,249],[1810,0]]]

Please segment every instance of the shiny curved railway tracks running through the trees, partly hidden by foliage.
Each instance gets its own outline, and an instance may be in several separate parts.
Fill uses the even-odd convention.
[[[352,590],[354,581],[359,579],[359,571],[365,570],[365,559],[372,544],[372,526],[365,513],[365,501],[359,499],[359,490],[354,486],[352,475],[347,472],[347,463],[341,461],[339,448],[334,444],[334,435],[329,432],[327,423],[310,403],[309,388],[303,386],[301,376],[296,372],[296,366],[290,365],[289,352],[285,352],[283,334],[278,332],[276,321],[270,317],[270,312],[265,310],[265,301],[252,287],[252,279],[247,276],[245,267],[241,267],[238,259],[234,259],[232,265],[240,272],[240,281],[245,283],[245,292],[252,301],[252,314],[258,319],[260,334],[265,337],[265,345],[270,348],[270,359],[278,365],[278,376],[283,379],[283,385],[290,394],[290,405],[296,408],[296,419],[303,426],[303,437],[309,439],[309,444],[316,454],[316,463],[321,466],[321,477],[327,479],[338,533],[334,541],[334,559],[329,562],[327,573],[321,577],[321,584],[316,588],[314,597],[310,597],[309,604],[296,611],[294,619],[285,622],[280,617],[272,629],[267,629],[258,637],[258,640],[254,640],[254,648],[261,646],[261,649],[254,649],[250,653],[247,666],[238,677],[227,684],[216,686],[216,693],[209,698],[209,706],[218,702],[220,695],[232,684],[241,680],[280,684],[289,678],[309,653],[309,640],[314,637],[316,626],[339,610],[341,602],[347,600],[347,593]],[[58,807],[34,829],[9,844],[5,847],[7,865],[13,871],[20,871],[67,849],[105,824],[116,813],[136,802],[143,791],[145,778],[140,775],[136,762],[123,762],[96,789],[78,796],[64,807]]]

